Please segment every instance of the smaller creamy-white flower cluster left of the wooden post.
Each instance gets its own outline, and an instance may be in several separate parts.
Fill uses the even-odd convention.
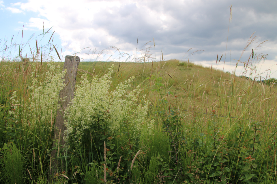
[[[58,100],[59,99],[59,92],[65,84],[64,75],[66,70],[60,72],[55,71],[55,65],[47,64],[49,70],[45,73],[46,78],[43,82],[38,82],[33,73],[32,85],[28,87],[30,99],[25,102],[25,108],[23,110],[23,124],[25,126],[30,126],[31,128],[35,125],[35,123],[42,125],[43,127],[46,126],[50,128],[51,126],[51,110],[52,116],[55,117],[57,114],[57,109],[59,108]],[[19,102],[16,100],[16,92],[13,93],[11,97],[13,104],[18,104]],[[13,113],[15,116],[20,114],[18,110],[18,106],[15,106],[15,110]],[[21,112],[22,113],[22,112]]]

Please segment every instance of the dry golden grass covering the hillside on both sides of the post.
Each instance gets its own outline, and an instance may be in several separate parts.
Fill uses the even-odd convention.
[[[80,62],[76,84],[82,74],[87,73],[89,78],[102,76],[112,64],[115,72],[112,74],[111,89],[135,76],[133,86],[140,84],[141,95],[146,95],[151,101],[150,114],[158,109],[156,106],[175,108],[188,125],[195,125],[195,117],[201,116],[203,126],[211,119],[211,115],[217,115],[229,122],[229,125],[235,121],[257,120],[270,128],[276,121],[276,85],[265,85],[256,81],[256,78],[248,80],[246,77],[235,76],[234,73],[225,73],[216,68],[211,70],[187,61]],[[56,62],[55,65],[62,68],[63,63]],[[31,73],[35,72],[38,81],[42,81],[46,66],[47,63],[41,65],[38,62],[35,66],[31,62],[25,66],[22,62],[2,62],[0,83],[9,89],[18,90],[27,100]],[[161,103],[161,99],[166,104]]]

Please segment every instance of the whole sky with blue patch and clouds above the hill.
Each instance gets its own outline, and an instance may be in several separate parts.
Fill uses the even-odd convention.
[[[43,53],[54,44],[62,60],[75,53],[84,61],[146,55],[147,62],[189,59],[242,75],[253,49],[248,74],[277,78],[276,8],[276,0],[0,0],[0,55],[18,55],[16,41],[29,57],[38,39]],[[16,49],[7,56],[5,45]]]

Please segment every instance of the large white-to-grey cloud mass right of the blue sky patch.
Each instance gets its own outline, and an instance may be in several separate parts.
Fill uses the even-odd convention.
[[[215,62],[217,54],[223,54],[225,58],[226,52],[225,60],[230,62],[231,53],[231,64],[234,65],[234,59],[240,58],[249,37],[255,32],[254,36],[258,36],[247,47],[241,60],[247,60],[252,48],[269,40],[256,51],[269,54],[267,59],[272,62],[277,61],[277,1],[234,0],[232,3],[230,24],[231,4],[220,0],[80,0],[78,3],[29,0],[14,6],[20,11],[37,13],[37,17],[29,18],[26,26],[41,30],[42,21],[45,28],[54,26],[64,54],[72,54],[85,47],[97,47],[101,51],[116,46],[122,52],[135,55],[137,37],[138,50],[155,38],[155,49],[152,48],[151,52],[156,51],[156,55],[160,55],[162,49],[166,59]],[[154,46],[153,42],[145,47],[150,46]],[[191,52],[186,52],[192,47],[195,49],[191,52],[199,49],[205,52],[189,55]]]

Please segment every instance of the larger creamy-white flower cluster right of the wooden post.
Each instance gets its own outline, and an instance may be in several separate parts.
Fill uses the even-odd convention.
[[[104,111],[109,114],[110,118],[106,120],[111,125],[112,131],[122,132],[123,123],[128,122],[128,129],[137,134],[146,124],[149,101],[145,100],[145,97],[139,101],[140,86],[130,92],[127,90],[131,87],[130,83],[134,77],[120,83],[115,90],[109,92],[112,83],[112,68],[113,66],[109,68],[108,74],[101,78],[96,76],[91,82],[87,80],[85,74],[81,77],[81,86],[76,89],[70,108],[65,110],[65,125],[67,126],[65,140],[67,140],[66,135],[72,135],[73,132],[75,138],[83,135],[85,129],[89,130],[97,122],[93,118]],[[152,123],[147,124],[147,129],[151,129]]]

